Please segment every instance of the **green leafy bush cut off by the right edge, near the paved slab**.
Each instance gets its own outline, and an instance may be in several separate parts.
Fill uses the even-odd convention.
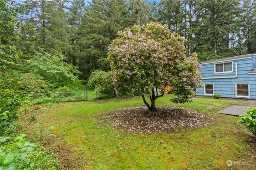
[[[256,107],[250,107],[244,115],[239,116],[239,122],[256,136]]]

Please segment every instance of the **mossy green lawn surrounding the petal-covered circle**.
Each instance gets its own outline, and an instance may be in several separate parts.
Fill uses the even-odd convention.
[[[168,95],[158,98],[157,105],[174,105],[169,99]],[[59,153],[62,164],[72,165],[70,169],[230,169],[227,160],[246,160],[249,164],[232,168],[254,169],[255,139],[237,117],[215,113],[234,104],[252,105],[210,98],[179,104],[209,114],[213,121],[173,133],[128,133],[107,125],[106,113],[143,105],[141,98],[61,103],[34,116],[43,130],[55,126],[52,133],[57,137],[48,139],[47,147]],[[30,123],[25,131],[32,133],[33,126]]]

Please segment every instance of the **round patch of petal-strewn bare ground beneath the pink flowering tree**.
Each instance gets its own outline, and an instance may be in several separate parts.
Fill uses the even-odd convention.
[[[193,109],[178,106],[158,106],[150,112],[146,106],[122,109],[111,113],[108,122],[113,128],[131,132],[162,132],[178,128],[199,128],[209,124],[211,117]]]

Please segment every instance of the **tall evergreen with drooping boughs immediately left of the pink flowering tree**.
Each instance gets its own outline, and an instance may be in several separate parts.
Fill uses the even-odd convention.
[[[85,8],[78,33],[81,48],[78,66],[85,77],[92,70],[109,68],[106,59],[108,45],[115,38],[116,32],[127,26],[128,16],[125,0],[93,0]]]

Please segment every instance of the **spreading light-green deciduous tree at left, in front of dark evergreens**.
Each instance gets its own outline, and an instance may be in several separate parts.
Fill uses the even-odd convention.
[[[36,53],[33,58],[28,60],[28,65],[28,69],[41,75],[54,87],[81,84],[81,81],[78,80],[78,75],[81,73],[73,65],[67,64],[65,56],[60,53]]]

